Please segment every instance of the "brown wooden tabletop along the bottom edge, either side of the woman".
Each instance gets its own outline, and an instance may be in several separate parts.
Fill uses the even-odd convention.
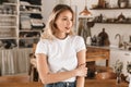
[[[0,87],[44,87],[41,83],[1,83]],[[85,87],[128,87],[128,83],[116,84],[116,79],[86,79]]]

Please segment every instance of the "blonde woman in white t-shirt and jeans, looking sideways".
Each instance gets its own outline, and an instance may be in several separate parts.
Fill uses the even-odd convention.
[[[73,21],[69,5],[56,5],[37,44],[37,70],[46,87],[84,87],[86,49],[83,38],[72,33]]]

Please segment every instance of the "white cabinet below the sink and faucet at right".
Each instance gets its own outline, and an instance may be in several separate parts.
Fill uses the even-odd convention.
[[[117,60],[123,62],[122,73],[128,75],[127,73],[127,62],[131,62],[131,51],[127,50],[110,50],[110,63],[109,66],[114,67]]]

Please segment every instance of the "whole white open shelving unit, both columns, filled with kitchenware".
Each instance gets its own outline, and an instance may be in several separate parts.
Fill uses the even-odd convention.
[[[0,49],[32,48],[44,26],[40,0],[0,2]]]

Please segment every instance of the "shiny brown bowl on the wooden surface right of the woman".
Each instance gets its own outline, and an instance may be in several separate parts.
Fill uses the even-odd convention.
[[[115,79],[117,75],[114,72],[102,72],[95,75],[96,79]]]

